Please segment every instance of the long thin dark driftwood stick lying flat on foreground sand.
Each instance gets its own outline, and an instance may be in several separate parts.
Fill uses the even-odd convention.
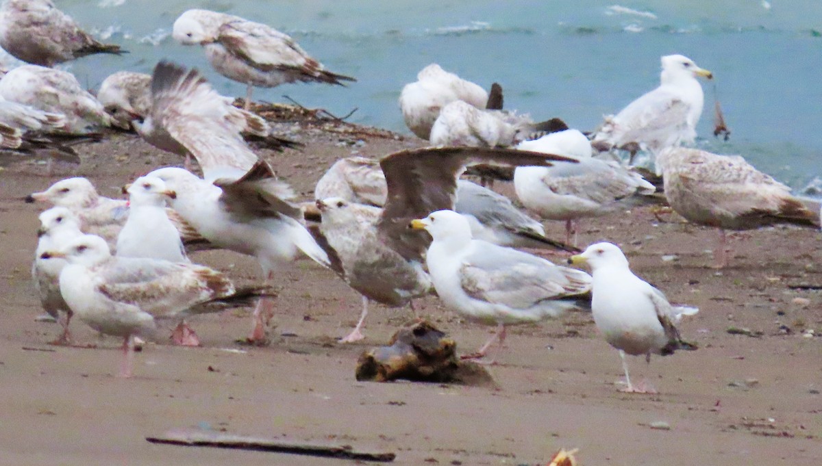
[[[355,459],[360,461],[394,461],[394,453],[372,453],[354,450],[351,445],[295,442],[270,438],[238,436],[223,432],[180,430],[164,436],[147,436],[146,441],[181,446],[210,446],[235,450],[270,451],[292,455],[321,456],[324,458]]]

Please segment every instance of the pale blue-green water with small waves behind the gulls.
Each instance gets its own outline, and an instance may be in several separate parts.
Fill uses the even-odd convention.
[[[658,85],[660,56],[681,53],[713,71],[732,130],[727,143],[713,139],[713,83],[704,83],[700,145],[741,153],[797,189],[822,176],[818,0],[76,0],[58,7],[131,51],[67,66],[90,87],[113,71],[150,72],[170,58],[200,68],[223,94],[245,95],[243,85],[211,71],[200,48],[169,36],[182,11],[202,7],[272,25],[330,71],[358,78],[348,88],[255,89],[256,99],[289,95],[336,115],[356,107],[351,121],[404,133],[399,90],[431,62],[485,87],[500,82],[508,108],[589,130]]]

